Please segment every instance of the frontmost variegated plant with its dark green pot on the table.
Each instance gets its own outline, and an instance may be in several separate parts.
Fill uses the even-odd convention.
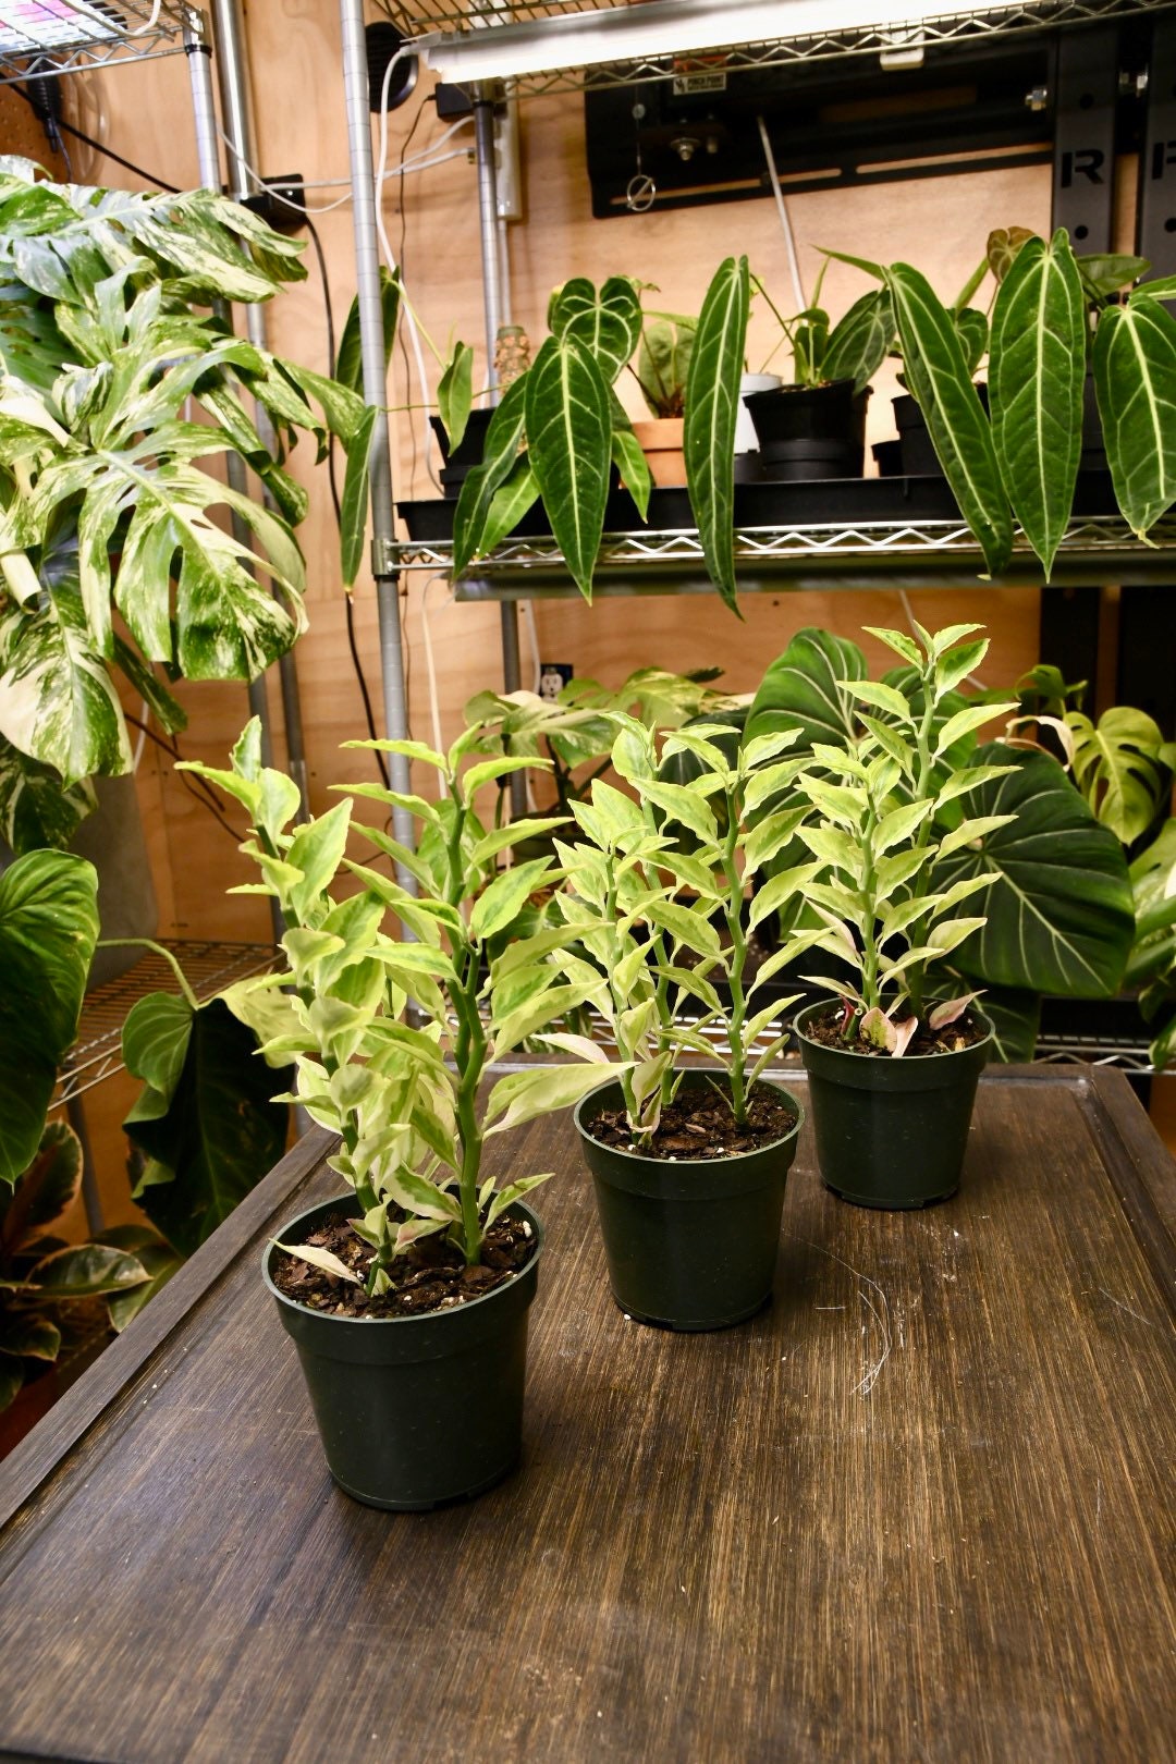
[[[333,1478],[368,1505],[421,1508],[497,1482],[520,1448],[541,1249],[524,1196],[547,1175],[520,1171],[497,1187],[483,1148],[578,1101],[607,1060],[580,1050],[582,1064],[524,1067],[483,1090],[495,1060],[584,997],[547,961],[564,928],[511,940],[527,898],[557,878],[552,861],[495,873],[501,852],[552,822],[485,829],[474,808],[480,789],[538,762],[487,757],[494,743],[478,727],[448,753],[353,746],[437,771],[435,803],[377,785],[353,792],[407,806],[423,826],[416,852],[379,827],[353,829],[351,799],[291,827],[298,792],[261,766],[256,723],[231,771],[190,769],[250,815],[243,850],[289,926],[286,972],[252,986],[266,1005],[264,1051],[294,1060],[296,1101],[339,1134],[330,1164],[347,1185],[289,1222],[266,1249],[264,1279],[298,1346]],[[351,861],[353,831],[420,893]],[[390,917],[404,937],[384,930]],[[279,1034],[275,1007],[286,1013]],[[245,997],[238,1009],[249,1013]]]

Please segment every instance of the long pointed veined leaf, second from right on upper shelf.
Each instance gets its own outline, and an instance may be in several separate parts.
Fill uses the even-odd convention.
[[[1031,238],[1000,284],[987,370],[993,446],[1046,579],[1074,506],[1083,450],[1086,300],[1060,228]]]

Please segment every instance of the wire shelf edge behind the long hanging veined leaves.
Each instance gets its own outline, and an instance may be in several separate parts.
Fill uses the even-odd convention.
[[[1151,529],[1148,543],[1125,520],[1111,515],[1072,520],[1053,573],[1054,586],[1083,582],[1171,580],[1176,549],[1176,517]],[[393,570],[448,572],[453,545],[448,540],[406,540],[390,547]],[[959,520],[876,522],[859,526],[746,527],[735,533],[735,568],[741,587],[779,589],[802,586],[808,573],[836,573],[845,586],[885,577],[889,586],[934,580],[943,586],[975,587],[984,559],[970,529]],[[693,529],[607,533],[596,566],[598,591],[681,593],[696,587],[712,593],[705,577],[703,550]],[[1040,564],[1026,540],[993,586],[1042,586]],[[480,559],[471,579],[455,586],[458,600],[487,593],[575,594],[564,557],[554,538],[504,540],[490,557]]]

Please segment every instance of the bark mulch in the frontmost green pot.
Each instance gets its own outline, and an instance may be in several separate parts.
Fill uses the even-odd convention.
[[[342,1214],[331,1214],[317,1226],[307,1244],[330,1249],[361,1281],[372,1267],[372,1247],[356,1235]],[[347,1318],[413,1318],[428,1311],[453,1311],[471,1298],[481,1298],[527,1265],[534,1254],[534,1237],[522,1219],[497,1219],[481,1245],[481,1261],[465,1267],[465,1258],[441,1235],[423,1237],[391,1265],[391,1286],[379,1298],[368,1298],[363,1288],[337,1274],[326,1274],[301,1261],[298,1254],[284,1254],[273,1268],[273,1284],[287,1298],[312,1311],[330,1311]]]

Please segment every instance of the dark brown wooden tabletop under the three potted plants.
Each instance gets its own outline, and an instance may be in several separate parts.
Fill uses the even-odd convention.
[[[1176,1171],[1118,1073],[986,1078],[922,1214],[806,1129],[776,1300],[714,1335],[614,1307],[569,1120],[524,1129],[524,1464],[425,1515],[333,1489],[257,1274],[323,1143],[0,1468],[0,1757],[1176,1757]]]

